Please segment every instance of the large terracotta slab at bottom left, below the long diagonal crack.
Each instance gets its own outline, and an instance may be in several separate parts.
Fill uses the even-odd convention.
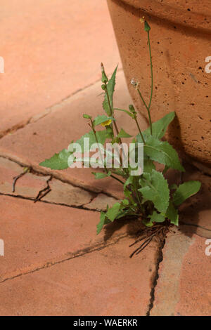
[[[0,315],[146,315],[157,246],[131,239],[0,284]]]

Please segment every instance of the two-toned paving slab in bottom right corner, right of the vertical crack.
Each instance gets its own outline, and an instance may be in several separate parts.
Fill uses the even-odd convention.
[[[153,316],[208,316],[211,313],[211,256],[206,239],[188,231],[167,236],[155,286]]]

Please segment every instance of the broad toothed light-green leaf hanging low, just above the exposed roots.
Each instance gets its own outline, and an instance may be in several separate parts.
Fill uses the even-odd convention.
[[[144,174],[150,176],[149,173]],[[145,186],[139,189],[143,197],[152,201],[159,212],[165,212],[169,206],[170,190],[162,173],[152,170],[151,181],[144,176],[140,181],[141,185],[145,181]]]

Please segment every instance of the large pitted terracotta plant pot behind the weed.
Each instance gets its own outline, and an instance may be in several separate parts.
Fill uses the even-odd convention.
[[[153,121],[175,111],[177,118],[167,137],[170,143],[210,167],[210,0],[108,0],[108,8],[137,109],[146,114],[131,79],[140,82],[146,100],[151,86],[147,34],[139,22],[144,15],[151,25]]]

